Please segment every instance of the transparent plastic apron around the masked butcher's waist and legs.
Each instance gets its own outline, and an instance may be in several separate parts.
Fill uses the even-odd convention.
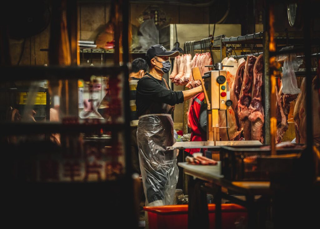
[[[165,81],[167,89],[169,89]],[[152,111],[152,107],[148,109]],[[176,150],[166,150],[175,143],[173,106],[162,104],[163,113],[139,117],[137,143],[146,206],[173,204],[179,177]],[[149,112],[147,111],[147,113]]]

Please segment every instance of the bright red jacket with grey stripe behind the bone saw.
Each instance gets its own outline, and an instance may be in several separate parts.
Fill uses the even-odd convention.
[[[207,133],[205,133],[199,123],[200,118],[200,108],[201,102],[204,100],[204,93],[199,93],[195,97],[193,97],[191,107],[189,110],[188,119],[191,125],[191,142],[200,142],[207,140]],[[200,149],[186,149],[186,152],[193,154],[195,152],[200,152]]]

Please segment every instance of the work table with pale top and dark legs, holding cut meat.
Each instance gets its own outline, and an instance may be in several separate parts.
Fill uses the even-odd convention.
[[[189,175],[188,181],[188,227],[194,228],[199,222],[203,222],[203,227],[209,225],[208,207],[206,202],[206,193],[214,195],[216,204],[215,222],[216,228],[222,228],[221,222],[221,199],[228,199],[240,204],[248,210],[249,228],[257,228],[257,203],[255,196],[271,196],[270,182],[267,181],[228,181],[221,174],[220,161],[215,166],[190,165],[186,162],[178,163],[184,169],[184,173]],[[229,191],[244,195],[245,201],[240,200],[221,191],[221,188],[227,188]]]

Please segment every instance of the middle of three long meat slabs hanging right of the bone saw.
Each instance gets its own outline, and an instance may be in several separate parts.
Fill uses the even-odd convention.
[[[238,114],[243,122],[243,135],[245,140],[251,140],[251,122],[248,119],[249,106],[252,96],[253,67],[257,57],[249,55],[244,67],[243,84],[238,101]]]

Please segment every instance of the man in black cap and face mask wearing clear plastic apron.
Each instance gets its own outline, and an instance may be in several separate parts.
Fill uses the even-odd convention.
[[[167,150],[175,142],[171,114],[175,104],[202,92],[201,86],[177,92],[170,89],[163,75],[171,68],[169,57],[178,55],[159,44],[150,47],[146,54],[150,71],[137,85],[137,143],[146,206],[173,204],[179,170],[177,153]]]

